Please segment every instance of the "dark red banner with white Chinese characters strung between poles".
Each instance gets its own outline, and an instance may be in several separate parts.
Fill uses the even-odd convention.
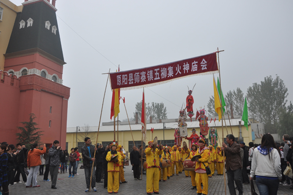
[[[218,72],[216,53],[164,65],[110,73],[112,89],[160,85],[174,79]]]

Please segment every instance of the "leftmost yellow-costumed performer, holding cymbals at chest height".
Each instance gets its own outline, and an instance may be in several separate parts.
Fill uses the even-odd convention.
[[[117,144],[114,142],[111,145],[111,151],[106,155],[106,161],[108,161],[108,186],[107,190],[109,194],[118,193],[119,190],[119,164],[121,163],[121,154],[116,151]],[[114,156],[118,157],[115,160],[111,160]]]

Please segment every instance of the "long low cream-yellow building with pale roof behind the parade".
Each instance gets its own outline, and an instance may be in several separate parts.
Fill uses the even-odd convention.
[[[214,117],[211,117],[214,119]],[[143,143],[143,146],[147,145],[147,142],[150,141],[155,136],[158,137],[158,143],[162,140],[162,144],[165,146],[174,146],[174,129],[178,128],[178,119],[166,119],[166,120],[148,120],[146,125],[146,144]],[[210,120],[210,119],[209,119]],[[217,132],[218,132],[218,146],[220,146],[220,143],[222,143],[222,132],[224,132],[224,142],[226,142],[226,135],[233,133],[235,136],[235,140],[238,140],[240,127],[242,131],[242,137],[244,139],[244,142],[246,145],[248,145],[249,142],[252,141],[252,134],[251,134],[251,125],[248,125],[248,130],[246,130],[246,127],[243,126],[243,121],[241,122],[241,125],[239,125],[239,121],[241,121],[240,116],[234,116],[234,119],[230,119],[231,122],[231,128],[230,128],[230,122],[229,119],[226,119],[223,124],[223,130],[222,131],[222,122],[219,120],[216,120],[215,123],[213,121],[209,121],[209,127],[216,126]],[[132,147],[135,144],[136,146],[140,146],[142,144],[142,126],[141,121],[138,119],[134,121],[129,121],[131,131],[129,128],[128,120],[127,122],[121,122],[117,121],[115,122],[115,141],[118,141],[118,144],[121,144],[124,146],[125,151],[131,152]],[[225,122],[227,124],[227,129],[225,127]],[[117,124],[119,125],[117,128]],[[214,125],[215,124],[215,125]],[[195,128],[197,131],[197,134],[199,135],[200,128],[199,128],[199,122],[198,120],[192,119],[192,122],[187,121],[188,126],[188,137],[191,135],[191,130]],[[153,137],[152,133],[150,131],[151,128],[154,128],[153,131]],[[82,127],[80,129],[83,129]],[[99,127],[94,126],[89,128],[89,132],[86,134],[88,137],[91,137],[92,144],[96,144],[97,139],[97,131]],[[118,129],[118,133],[117,133]],[[232,129],[232,132],[231,132]],[[228,132],[227,132],[228,131]],[[132,132],[132,134],[131,134]],[[66,147],[72,148],[72,147],[79,147],[82,148],[84,146],[84,135],[85,133],[81,131],[77,131],[76,127],[70,127],[67,128],[67,134],[66,134]],[[132,140],[132,136],[134,139],[134,143]],[[206,138],[208,138],[207,136]],[[104,122],[102,123],[100,130],[99,130],[99,137],[98,137],[98,143],[102,143],[104,146],[107,145],[110,142],[113,142],[114,140],[114,122]],[[183,142],[186,141],[188,144],[188,140],[183,138]],[[209,140],[207,140],[207,143],[209,144]]]

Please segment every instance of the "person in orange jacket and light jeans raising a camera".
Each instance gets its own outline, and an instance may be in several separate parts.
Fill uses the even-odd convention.
[[[37,174],[39,172],[40,165],[42,164],[40,155],[46,153],[47,148],[45,144],[43,145],[42,151],[37,149],[37,147],[38,147],[38,144],[31,145],[31,150],[28,152],[28,155],[27,155],[27,167],[30,170],[27,176],[26,188],[31,187],[32,181],[33,181],[33,187],[40,187],[37,182]]]

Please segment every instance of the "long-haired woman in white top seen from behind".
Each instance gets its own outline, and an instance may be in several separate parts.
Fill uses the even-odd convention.
[[[277,195],[282,179],[281,159],[271,134],[266,133],[261,145],[253,151],[250,179],[255,183],[260,195]]]

